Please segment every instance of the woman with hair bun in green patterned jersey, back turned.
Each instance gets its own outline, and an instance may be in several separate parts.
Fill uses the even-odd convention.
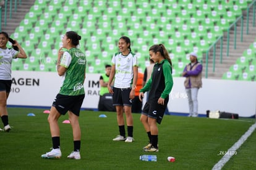
[[[77,48],[81,36],[70,31],[62,38],[62,46],[67,51],[59,49],[57,71],[62,77],[61,89],[53,101],[48,116],[53,150],[41,155],[42,158],[61,158],[60,132],[58,119],[61,115],[69,114],[69,121],[73,130],[74,150],[67,158],[80,159],[81,131],[79,113],[85,98],[83,83],[85,81],[86,57]]]

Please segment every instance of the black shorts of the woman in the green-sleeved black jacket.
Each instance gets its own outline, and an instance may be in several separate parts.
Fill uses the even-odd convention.
[[[158,122],[158,124],[161,124],[165,109],[167,108],[168,101],[169,97],[164,99],[164,105],[158,104],[158,99],[155,99],[150,103],[147,102],[145,103],[145,106],[142,110],[142,114],[156,119],[156,122]]]

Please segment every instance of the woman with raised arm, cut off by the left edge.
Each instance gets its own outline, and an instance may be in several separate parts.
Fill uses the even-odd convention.
[[[7,48],[6,45],[8,41],[11,41],[14,49]],[[11,130],[6,103],[11,91],[13,58],[25,59],[27,58],[27,54],[16,40],[9,38],[6,32],[0,32],[0,116],[4,124],[4,131],[6,132]]]

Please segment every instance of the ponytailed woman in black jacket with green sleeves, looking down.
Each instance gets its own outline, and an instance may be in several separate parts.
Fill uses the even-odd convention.
[[[169,101],[169,93],[173,88],[171,59],[163,44],[153,45],[149,49],[150,58],[155,62],[153,72],[146,85],[140,90],[139,98],[142,100],[144,93],[149,91],[148,101],[142,110],[142,122],[150,140],[144,151],[158,151],[158,124],[164,116]]]

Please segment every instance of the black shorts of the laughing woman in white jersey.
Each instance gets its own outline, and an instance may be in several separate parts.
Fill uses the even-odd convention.
[[[130,99],[130,90],[132,88],[113,88],[113,106],[132,106]]]

